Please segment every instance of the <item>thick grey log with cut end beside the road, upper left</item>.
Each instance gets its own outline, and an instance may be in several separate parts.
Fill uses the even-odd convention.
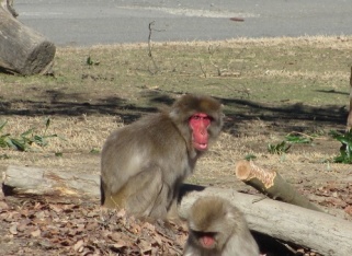
[[[47,73],[53,66],[55,45],[13,15],[9,0],[0,0],[0,68],[24,75]]]

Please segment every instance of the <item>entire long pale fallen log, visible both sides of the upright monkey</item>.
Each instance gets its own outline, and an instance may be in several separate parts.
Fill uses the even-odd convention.
[[[5,195],[61,195],[100,198],[100,176],[64,171],[9,166],[3,173]],[[352,223],[303,207],[246,195],[232,189],[184,185],[179,213],[186,217],[200,196],[219,196],[231,201],[246,216],[251,230],[315,249],[326,256],[352,252]]]

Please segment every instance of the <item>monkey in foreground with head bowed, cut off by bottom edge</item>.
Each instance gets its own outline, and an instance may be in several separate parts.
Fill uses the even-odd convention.
[[[219,197],[201,197],[191,207],[184,256],[259,256],[243,214]]]

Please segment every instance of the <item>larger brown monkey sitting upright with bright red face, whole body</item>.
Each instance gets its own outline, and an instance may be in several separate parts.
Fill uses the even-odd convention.
[[[102,150],[102,205],[135,217],[168,218],[181,183],[222,126],[219,102],[184,95],[170,109],[114,131]]]

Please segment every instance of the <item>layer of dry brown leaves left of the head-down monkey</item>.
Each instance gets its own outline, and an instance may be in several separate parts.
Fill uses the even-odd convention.
[[[181,255],[186,238],[180,226],[150,224],[94,202],[36,198],[9,206],[1,196],[0,202],[0,244],[18,244],[15,255]]]

